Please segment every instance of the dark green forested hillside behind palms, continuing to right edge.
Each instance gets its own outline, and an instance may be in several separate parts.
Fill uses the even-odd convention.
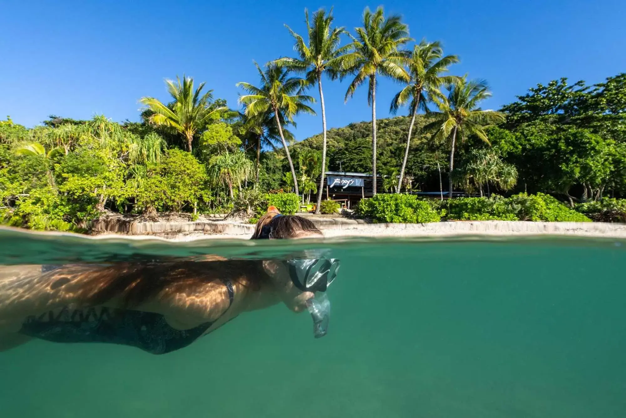
[[[468,193],[511,194],[543,191],[572,204],[626,194],[626,74],[587,86],[567,79],[539,84],[501,110],[506,120],[486,127],[488,141],[461,136],[454,185]],[[409,118],[377,121],[379,173],[396,178]],[[418,115],[406,175],[413,190],[443,189],[448,179],[449,140],[440,141],[429,115]],[[371,172],[371,123],[351,123],[327,133],[327,167],[332,171]],[[321,135],[292,148],[319,151]],[[439,163],[439,166],[438,166]],[[394,181],[384,182],[387,190]]]

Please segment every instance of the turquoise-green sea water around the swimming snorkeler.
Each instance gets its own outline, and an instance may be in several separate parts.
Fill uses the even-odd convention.
[[[270,258],[295,249],[0,234],[0,264]],[[626,416],[626,242],[297,246],[332,248],[342,260],[326,337],[313,338],[307,314],[277,305],[161,356],[30,342],[0,353],[0,416]]]

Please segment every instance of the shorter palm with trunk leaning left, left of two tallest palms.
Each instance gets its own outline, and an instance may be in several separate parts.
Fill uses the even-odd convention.
[[[289,161],[289,168],[291,174],[294,177],[294,190],[295,194],[299,194],[298,180],[295,176],[294,163],[291,160],[289,153],[289,147],[285,141],[285,135],[282,131],[281,118],[294,123],[294,116],[299,113],[309,113],[315,115],[315,111],[310,108],[306,103],[315,103],[315,99],[311,96],[305,96],[301,94],[303,89],[307,86],[307,82],[302,78],[290,77],[289,70],[283,68],[276,63],[267,64],[267,69],[263,71],[259,64],[254,63],[261,76],[261,86],[255,87],[250,83],[237,83],[237,86],[242,87],[247,93],[244,96],[240,96],[239,103],[243,103],[245,106],[246,116],[262,115],[266,112],[271,112],[276,121],[278,127],[280,140],[282,146],[287,154],[287,160]],[[282,116],[281,116],[282,114]]]

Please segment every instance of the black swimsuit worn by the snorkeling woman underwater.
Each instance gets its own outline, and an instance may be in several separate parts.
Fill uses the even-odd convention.
[[[223,280],[232,305],[232,283]],[[225,313],[225,312],[224,312]],[[223,315],[223,314],[222,314]],[[28,317],[19,332],[52,342],[103,342],[137,347],[152,354],[166,354],[191,344],[213,325],[205,322],[195,328],[178,330],[165,317],[140,310],[101,308],[70,309]]]

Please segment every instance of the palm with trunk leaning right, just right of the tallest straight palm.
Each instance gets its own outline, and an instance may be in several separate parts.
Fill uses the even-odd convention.
[[[409,135],[406,139],[406,150],[404,150],[404,160],[400,169],[397,193],[400,193],[404,178],[406,161],[409,158],[409,148],[411,146],[411,133],[415,123],[415,115],[418,110],[428,112],[428,102],[435,94],[441,94],[439,87],[443,84],[451,84],[456,81],[455,76],[442,76],[441,73],[448,71],[448,66],[459,62],[456,55],[447,55],[441,58],[443,49],[439,42],[428,43],[425,40],[414,46],[413,53],[408,62],[410,81],[391,101],[391,113],[394,115],[398,108],[411,102],[409,105],[411,113],[411,123],[409,124]]]

